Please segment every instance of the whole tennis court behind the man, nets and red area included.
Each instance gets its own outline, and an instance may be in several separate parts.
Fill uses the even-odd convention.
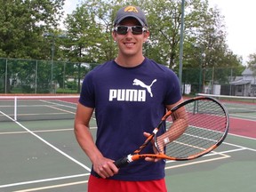
[[[76,101],[77,96],[0,96],[0,192],[86,191],[91,164],[73,133]],[[256,104],[239,103],[224,103],[230,132],[215,153],[167,161],[168,191],[256,190]],[[94,119],[91,127],[95,135]]]

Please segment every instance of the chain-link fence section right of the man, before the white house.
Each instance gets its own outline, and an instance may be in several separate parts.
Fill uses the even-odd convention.
[[[232,96],[256,96],[256,69],[185,68],[183,92]],[[187,88],[187,90],[186,90]]]

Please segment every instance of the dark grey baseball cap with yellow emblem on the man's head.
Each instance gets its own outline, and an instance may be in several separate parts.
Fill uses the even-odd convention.
[[[139,20],[142,27],[148,27],[146,16],[139,6],[125,6],[118,10],[116,13],[116,19],[114,20],[114,25],[118,25],[125,18],[132,17]]]

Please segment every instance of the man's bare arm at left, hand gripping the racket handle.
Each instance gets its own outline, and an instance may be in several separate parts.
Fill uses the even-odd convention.
[[[76,140],[85,154],[90,158],[94,172],[97,172],[102,178],[108,178],[116,174],[118,169],[113,164],[113,160],[102,156],[100,150],[94,143],[89,127],[92,113],[93,108],[84,107],[80,103],[77,105],[74,126]]]

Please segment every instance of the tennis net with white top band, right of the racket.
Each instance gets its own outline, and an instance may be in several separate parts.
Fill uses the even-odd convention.
[[[256,97],[213,95],[197,93],[198,96],[208,96],[220,100],[228,109],[229,114],[253,113],[256,115]]]

